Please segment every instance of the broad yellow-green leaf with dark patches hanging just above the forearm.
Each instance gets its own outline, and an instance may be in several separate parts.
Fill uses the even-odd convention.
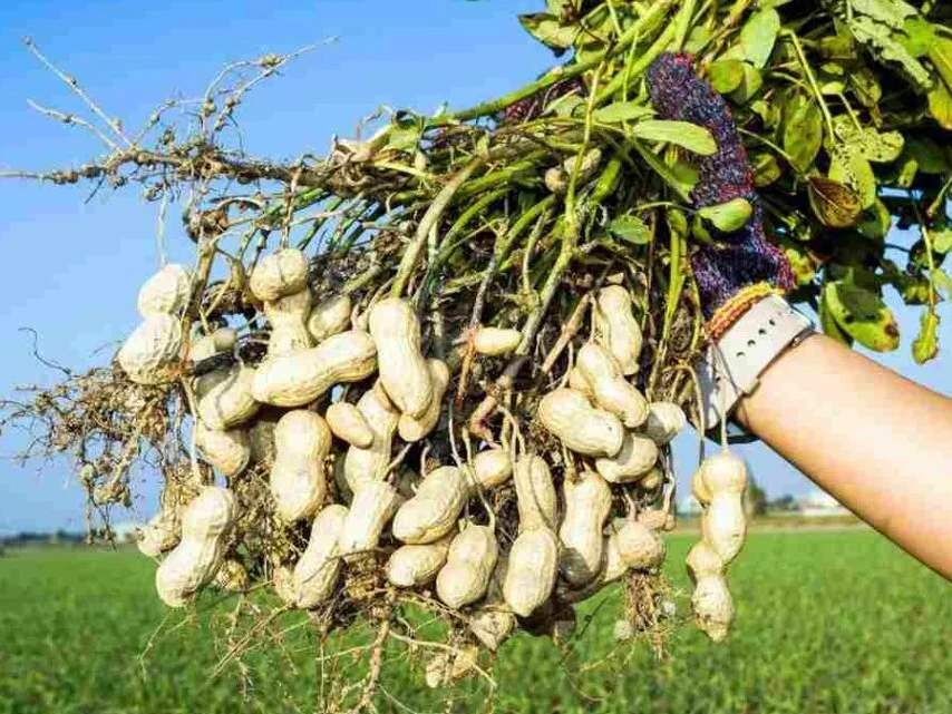
[[[845,281],[824,287],[829,314],[851,338],[874,352],[891,352],[900,345],[900,329],[883,299]]]

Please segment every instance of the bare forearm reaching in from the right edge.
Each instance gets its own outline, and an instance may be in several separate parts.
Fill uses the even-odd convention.
[[[952,400],[824,335],[783,354],[738,420],[952,579]]]

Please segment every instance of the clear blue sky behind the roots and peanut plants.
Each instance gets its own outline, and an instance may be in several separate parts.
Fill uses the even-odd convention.
[[[202,0],[142,2],[0,2],[0,169],[54,168],[99,150],[78,129],[40,117],[28,98],[65,110],[76,99],[22,48],[31,36],[54,61],[128,127],[140,125],[169,96],[194,96],[225,63],[286,52],[329,37],[265,85],[239,115],[252,153],[291,157],[323,153],[332,134],[349,136],[356,121],[381,104],[433,110],[444,101],[474,104],[514,88],[545,69],[551,55],[525,35],[516,12],[542,0]],[[31,356],[31,326],[40,350],[70,366],[104,363],[110,342],[136,322],[138,285],[157,266],[155,206],[134,189],[104,192],[86,203],[88,187],[0,183],[0,391],[54,375]],[[171,212],[167,245],[188,260]],[[902,310],[905,333],[917,312]],[[952,349],[952,315],[944,310],[943,342]],[[95,354],[106,345],[106,350]],[[950,393],[949,358],[916,366],[904,344],[881,358],[933,389]],[[81,492],[65,464],[38,473],[9,456],[20,442],[0,441],[0,534],[82,527]],[[697,454],[696,437],[676,443],[684,483]],[[760,444],[744,447],[756,478],[773,495],[803,492],[803,476]],[[154,483],[134,515],[150,512]]]

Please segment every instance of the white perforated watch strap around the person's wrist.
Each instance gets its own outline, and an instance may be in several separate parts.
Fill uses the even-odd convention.
[[[779,295],[751,305],[694,365],[705,431],[730,419],[740,399],[757,389],[764,371],[813,332],[813,321]]]

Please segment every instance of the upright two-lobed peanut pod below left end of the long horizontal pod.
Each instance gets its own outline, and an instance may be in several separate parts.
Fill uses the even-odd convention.
[[[314,515],[328,491],[324,459],[331,432],[319,414],[289,411],[274,428],[271,495],[278,516],[288,522]]]

